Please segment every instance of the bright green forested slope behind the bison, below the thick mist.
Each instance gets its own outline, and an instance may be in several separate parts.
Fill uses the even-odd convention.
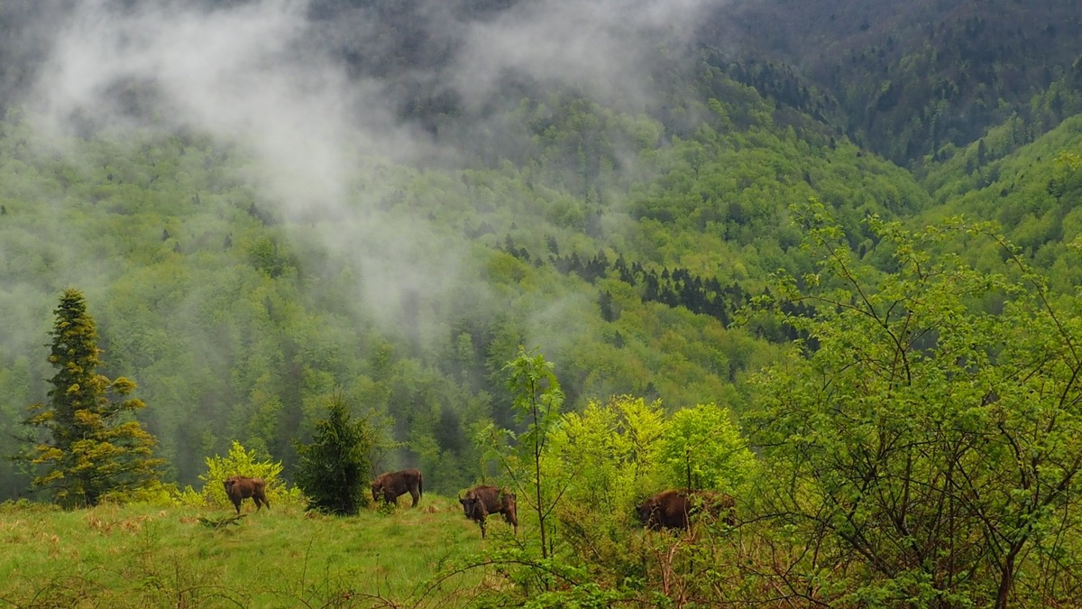
[[[333,213],[291,217],[243,178],[253,159],[209,139],[102,134],[41,152],[9,122],[8,425],[43,393],[49,311],[78,285],[108,372],[140,383],[183,482],[233,439],[291,463],[316,414],[305,404],[343,386],[394,417],[434,489],[456,489],[476,475],[471,427],[510,424],[502,364],[519,344],[557,362],[576,404],[632,393],[739,409],[738,380],[793,337],[733,326],[769,273],[809,270],[789,203],[834,202],[867,249],[865,213],[912,213],[928,198],[853,145],[810,154],[822,142],[775,126],[762,101],[735,108],[755,124],[704,124],[669,144],[646,117],[550,103],[566,116],[546,117],[536,158],[562,159],[590,137],[576,126],[595,122],[637,137],[655,177],[591,204],[559,186],[562,160],[446,171],[358,157],[378,182],[360,178]],[[712,112],[731,122],[723,104]]]

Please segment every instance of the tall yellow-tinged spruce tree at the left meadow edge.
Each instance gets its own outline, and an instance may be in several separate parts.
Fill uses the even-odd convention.
[[[32,404],[25,420],[45,431],[31,436],[32,446],[22,455],[43,470],[34,485],[52,490],[62,505],[81,507],[151,484],[163,462],[153,456],[157,439],[134,417],[146,405],[128,398],[135,384],[97,374],[102,351],[82,293],[65,290],[54,314],[53,388],[49,401]]]

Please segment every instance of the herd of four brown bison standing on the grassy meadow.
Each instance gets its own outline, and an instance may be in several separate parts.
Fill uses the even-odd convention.
[[[240,514],[240,501],[251,497],[255,502],[255,510],[263,505],[270,508],[270,502],[265,494],[265,482],[262,478],[246,478],[230,476],[225,480],[225,494]],[[424,493],[423,477],[418,469],[387,471],[372,480],[372,501],[383,497],[387,504],[398,504],[398,497],[409,493],[413,502],[410,507],[417,507]],[[480,527],[480,536],[485,539],[485,521],[489,515],[502,514],[507,524],[518,534],[518,505],[515,493],[507,489],[481,484],[474,487],[459,496],[465,517]],[[648,497],[637,507],[638,520],[644,527],[652,530],[689,529],[691,519],[704,514],[713,519],[721,519],[729,526],[736,523],[736,502],[730,495],[715,491],[663,491]]]

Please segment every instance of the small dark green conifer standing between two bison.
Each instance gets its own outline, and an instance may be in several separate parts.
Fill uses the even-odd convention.
[[[369,505],[370,453],[375,444],[367,418],[349,419],[341,393],[327,404],[327,417],[316,422],[311,442],[298,445],[301,461],[296,485],[308,497],[308,507],[340,516],[356,515]]]

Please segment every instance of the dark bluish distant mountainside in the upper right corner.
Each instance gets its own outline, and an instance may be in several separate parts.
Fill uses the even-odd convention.
[[[900,165],[1082,109],[1074,2],[742,1],[700,34],[740,81]]]

